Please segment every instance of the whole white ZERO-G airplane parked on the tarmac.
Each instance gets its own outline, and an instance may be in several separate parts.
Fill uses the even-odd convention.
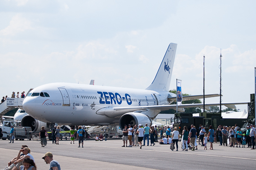
[[[176,94],[170,93],[170,81],[177,44],[170,43],[153,82],[146,89],[129,89],[72,83],[50,83],[32,89],[23,101],[23,108],[33,118],[58,125],[151,125],[160,111],[174,109]],[[206,98],[219,94],[206,95]],[[203,98],[183,96],[183,100]],[[235,108],[235,104],[222,103]],[[219,103],[205,104],[217,106]],[[203,107],[200,104],[181,104],[178,110]]]

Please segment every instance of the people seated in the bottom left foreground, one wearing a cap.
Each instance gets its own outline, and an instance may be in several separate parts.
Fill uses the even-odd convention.
[[[47,152],[42,157],[45,163],[50,164],[50,170],[61,170],[60,164],[53,160],[53,154]],[[18,152],[18,156],[14,157],[7,163],[7,166],[2,170],[36,170],[35,159],[31,155],[31,150],[27,145],[22,145]]]

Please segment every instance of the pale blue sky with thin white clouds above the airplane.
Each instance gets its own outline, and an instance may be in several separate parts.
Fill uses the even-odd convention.
[[[222,102],[249,102],[255,6],[253,0],[1,0],[0,96],[92,79],[146,89],[168,44],[177,43],[170,89],[180,79],[182,93],[203,94],[205,56],[205,93],[220,93],[222,55]]]

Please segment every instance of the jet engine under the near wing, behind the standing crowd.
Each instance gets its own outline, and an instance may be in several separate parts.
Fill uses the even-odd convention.
[[[141,124],[144,127],[146,123],[148,124],[148,126],[151,126],[152,122],[149,119],[149,117],[147,117],[142,113],[136,113],[136,112],[126,113],[122,115],[121,118],[119,119],[119,126],[121,129],[124,129],[125,124],[127,126],[128,124],[131,124],[132,127],[136,124],[137,125]]]

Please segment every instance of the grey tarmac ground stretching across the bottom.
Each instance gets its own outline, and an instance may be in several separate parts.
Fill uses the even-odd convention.
[[[44,148],[39,140],[14,140],[13,144],[8,142],[0,140],[0,169],[18,155],[22,144],[31,149],[37,170],[49,169],[49,164],[45,164],[41,158],[46,152],[53,153],[53,159],[60,163],[62,170],[252,170],[256,166],[256,150],[242,148],[242,145],[241,148],[230,148],[217,143],[213,144],[214,150],[210,150],[210,144],[207,144],[207,150],[198,146],[195,151],[181,151],[181,142],[178,142],[180,148],[177,152],[170,150],[170,145],[157,143],[143,146],[142,149],[121,147],[123,141],[118,139],[87,140],[84,141],[84,148],[77,147],[77,140],[75,144],[70,144],[70,140],[60,140],[58,145],[48,140]]]

